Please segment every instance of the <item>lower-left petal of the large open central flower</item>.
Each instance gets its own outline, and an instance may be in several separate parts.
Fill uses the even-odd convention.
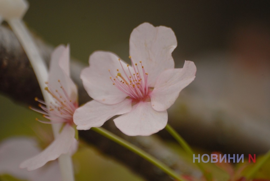
[[[115,105],[101,104],[92,100],[75,111],[73,121],[78,130],[88,130],[91,127],[100,127],[112,116],[125,114],[130,110],[130,99],[125,99]]]

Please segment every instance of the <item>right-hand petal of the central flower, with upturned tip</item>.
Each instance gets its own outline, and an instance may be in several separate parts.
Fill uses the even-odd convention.
[[[173,105],[180,91],[194,80],[195,74],[196,66],[192,61],[185,61],[182,69],[162,72],[150,93],[153,109],[163,111]]]

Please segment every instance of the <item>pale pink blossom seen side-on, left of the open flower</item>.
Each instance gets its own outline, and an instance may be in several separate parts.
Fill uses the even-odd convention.
[[[20,168],[27,168],[29,171],[42,167],[48,161],[57,159],[61,154],[72,154],[77,149],[73,113],[78,107],[78,93],[76,85],[70,79],[69,46],[58,46],[52,53],[49,80],[46,84],[48,86],[46,90],[51,94],[52,102],[46,104],[36,98],[42,110],[32,109],[51,120],[46,123],[63,123],[63,128],[45,150],[21,163]]]

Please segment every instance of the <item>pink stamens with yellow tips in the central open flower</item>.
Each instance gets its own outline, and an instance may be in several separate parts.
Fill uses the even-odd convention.
[[[135,65],[133,64],[131,56],[129,56],[129,58],[132,64],[131,70],[130,66],[127,65],[128,71],[125,71],[120,59],[118,59],[122,67],[121,71],[122,73],[117,69],[116,70],[118,72],[117,75],[115,76],[115,78],[112,78],[114,76],[111,74],[109,70],[111,74],[110,79],[113,82],[113,85],[115,85],[123,93],[126,93],[130,98],[134,99],[134,101],[146,99],[149,93],[147,83],[148,73],[145,73],[141,61],[140,61],[141,66],[138,67],[137,63],[135,63]],[[140,69],[143,75],[141,75],[139,71]]]

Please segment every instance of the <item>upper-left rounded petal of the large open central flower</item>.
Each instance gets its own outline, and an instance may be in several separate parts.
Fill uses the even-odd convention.
[[[97,51],[89,57],[89,67],[81,72],[84,88],[90,97],[103,104],[117,104],[122,102],[127,95],[119,90],[110,77],[115,78],[117,69],[122,70],[119,58],[111,52]],[[127,64],[121,60],[126,71]],[[111,71],[111,76],[109,69]]]

